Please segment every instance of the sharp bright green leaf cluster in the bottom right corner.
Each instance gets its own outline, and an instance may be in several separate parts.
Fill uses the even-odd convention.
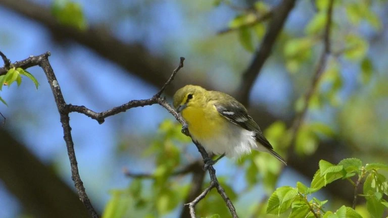
[[[381,217],[384,209],[388,208],[388,202],[384,196],[388,196],[388,181],[379,172],[388,171],[388,165],[383,163],[369,163],[363,165],[357,158],[347,158],[341,160],[337,165],[320,160],[319,169],[315,173],[310,187],[301,182],[297,182],[296,187],[283,186],[277,188],[269,197],[267,213],[281,214],[287,211],[288,217],[351,217],[362,218],[362,216],[352,207],[343,205],[336,211],[326,210],[324,205],[328,200],[319,200],[313,197],[309,200],[308,196],[321,190],[327,184],[336,180],[348,180],[357,190],[358,186],[364,181],[363,193],[355,192],[355,199],[362,196],[366,199],[366,207],[371,217]],[[354,180],[356,182],[354,182]]]

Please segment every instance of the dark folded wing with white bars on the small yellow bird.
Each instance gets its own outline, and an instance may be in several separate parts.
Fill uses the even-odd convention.
[[[229,122],[238,125],[246,130],[252,131],[255,133],[255,139],[264,147],[269,150],[273,150],[272,145],[269,141],[263,136],[263,133],[260,130],[259,125],[248,115],[246,108],[243,104],[228,96],[228,99],[225,103],[214,103],[218,113],[223,116]]]

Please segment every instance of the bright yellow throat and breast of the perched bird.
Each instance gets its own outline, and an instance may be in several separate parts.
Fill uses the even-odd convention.
[[[213,107],[207,108],[207,111],[216,110]],[[225,121],[218,112],[205,113],[202,107],[189,106],[182,111],[182,117],[188,124],[191,136],[199,141],[207,140],[223,132],[222,122]]]

